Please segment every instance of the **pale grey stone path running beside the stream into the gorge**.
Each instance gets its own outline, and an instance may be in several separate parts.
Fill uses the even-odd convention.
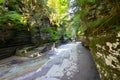
[[[90,52],[80,42],[54,49],[42,67],[11,80],[100,80]]]

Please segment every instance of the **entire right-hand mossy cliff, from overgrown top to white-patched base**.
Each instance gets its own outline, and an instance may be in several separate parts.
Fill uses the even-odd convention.
[[[116,4],[120,5],[110,0],[97,0],[83,7],[88,13],[81,18],[87,27],[82,41],[91,50],[101,80],[120,79],[120,9]]]

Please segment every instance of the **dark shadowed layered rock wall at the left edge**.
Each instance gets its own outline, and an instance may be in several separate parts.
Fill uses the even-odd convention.
[[[30,37],[28,31],[0,30],[0,59],[14,55],[19,46],[30,44]]]

